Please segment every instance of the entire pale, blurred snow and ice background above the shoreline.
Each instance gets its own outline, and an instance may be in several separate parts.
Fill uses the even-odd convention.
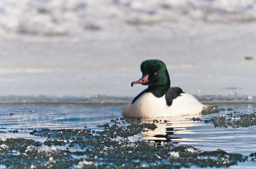
[[[0,100],[136,96],[145,59],[185,92],[253,101],[256,0],[0,1]]]

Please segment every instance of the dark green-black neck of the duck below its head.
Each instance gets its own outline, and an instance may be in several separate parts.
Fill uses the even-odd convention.
[[[170,81],[168,72],[166,76],[168,77],[166,84],[157,85],[157,86],[154,86],[154,85],[148,86],[148,92],[151,92],[154,96],[158,98],[164,96],[171,86],[171,81]]]

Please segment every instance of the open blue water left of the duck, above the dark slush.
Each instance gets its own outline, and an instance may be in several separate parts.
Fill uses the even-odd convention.
[[[9,129],[93,128],[121,117],[121,111],[122,107],[115,104],[2,104],[1,126]]]

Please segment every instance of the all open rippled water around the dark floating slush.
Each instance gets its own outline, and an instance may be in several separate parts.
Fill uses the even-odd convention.
[[[122,118],[124,106],[125,104],[0,104],[0,138],[14,136],[44,142],[46,138],[29,134],[33,129],[39,128],[80,129],[86,126],[86,129],[97,131],[100,130],[97,125]],[[213,116],[227,113],[254,113],[256,104],[219,104],[218,108],[223,110],[208,115],[140,119],[147,123],[156,119],[158,122],[154,121],[154,124],[157,128],[140,132],[129,139],[145,139],[157,144],[165,141],[175,145],[194,146],[204,151],[222,149],[242,155],[256,152],[255,125],[240,127],[231,124],[221,127],[221,122],[217,122],[217,125],[207,122]],[[200,118],[201,121],[193,121],[193,117]],[[245,162],[231,168],[253,168],[255,165],[254,162]]]

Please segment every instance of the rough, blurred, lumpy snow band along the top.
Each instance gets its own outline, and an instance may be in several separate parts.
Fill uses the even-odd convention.
[[[67,35],[129,25],[250,22],[254,0],[2,0],[0,32]]]

